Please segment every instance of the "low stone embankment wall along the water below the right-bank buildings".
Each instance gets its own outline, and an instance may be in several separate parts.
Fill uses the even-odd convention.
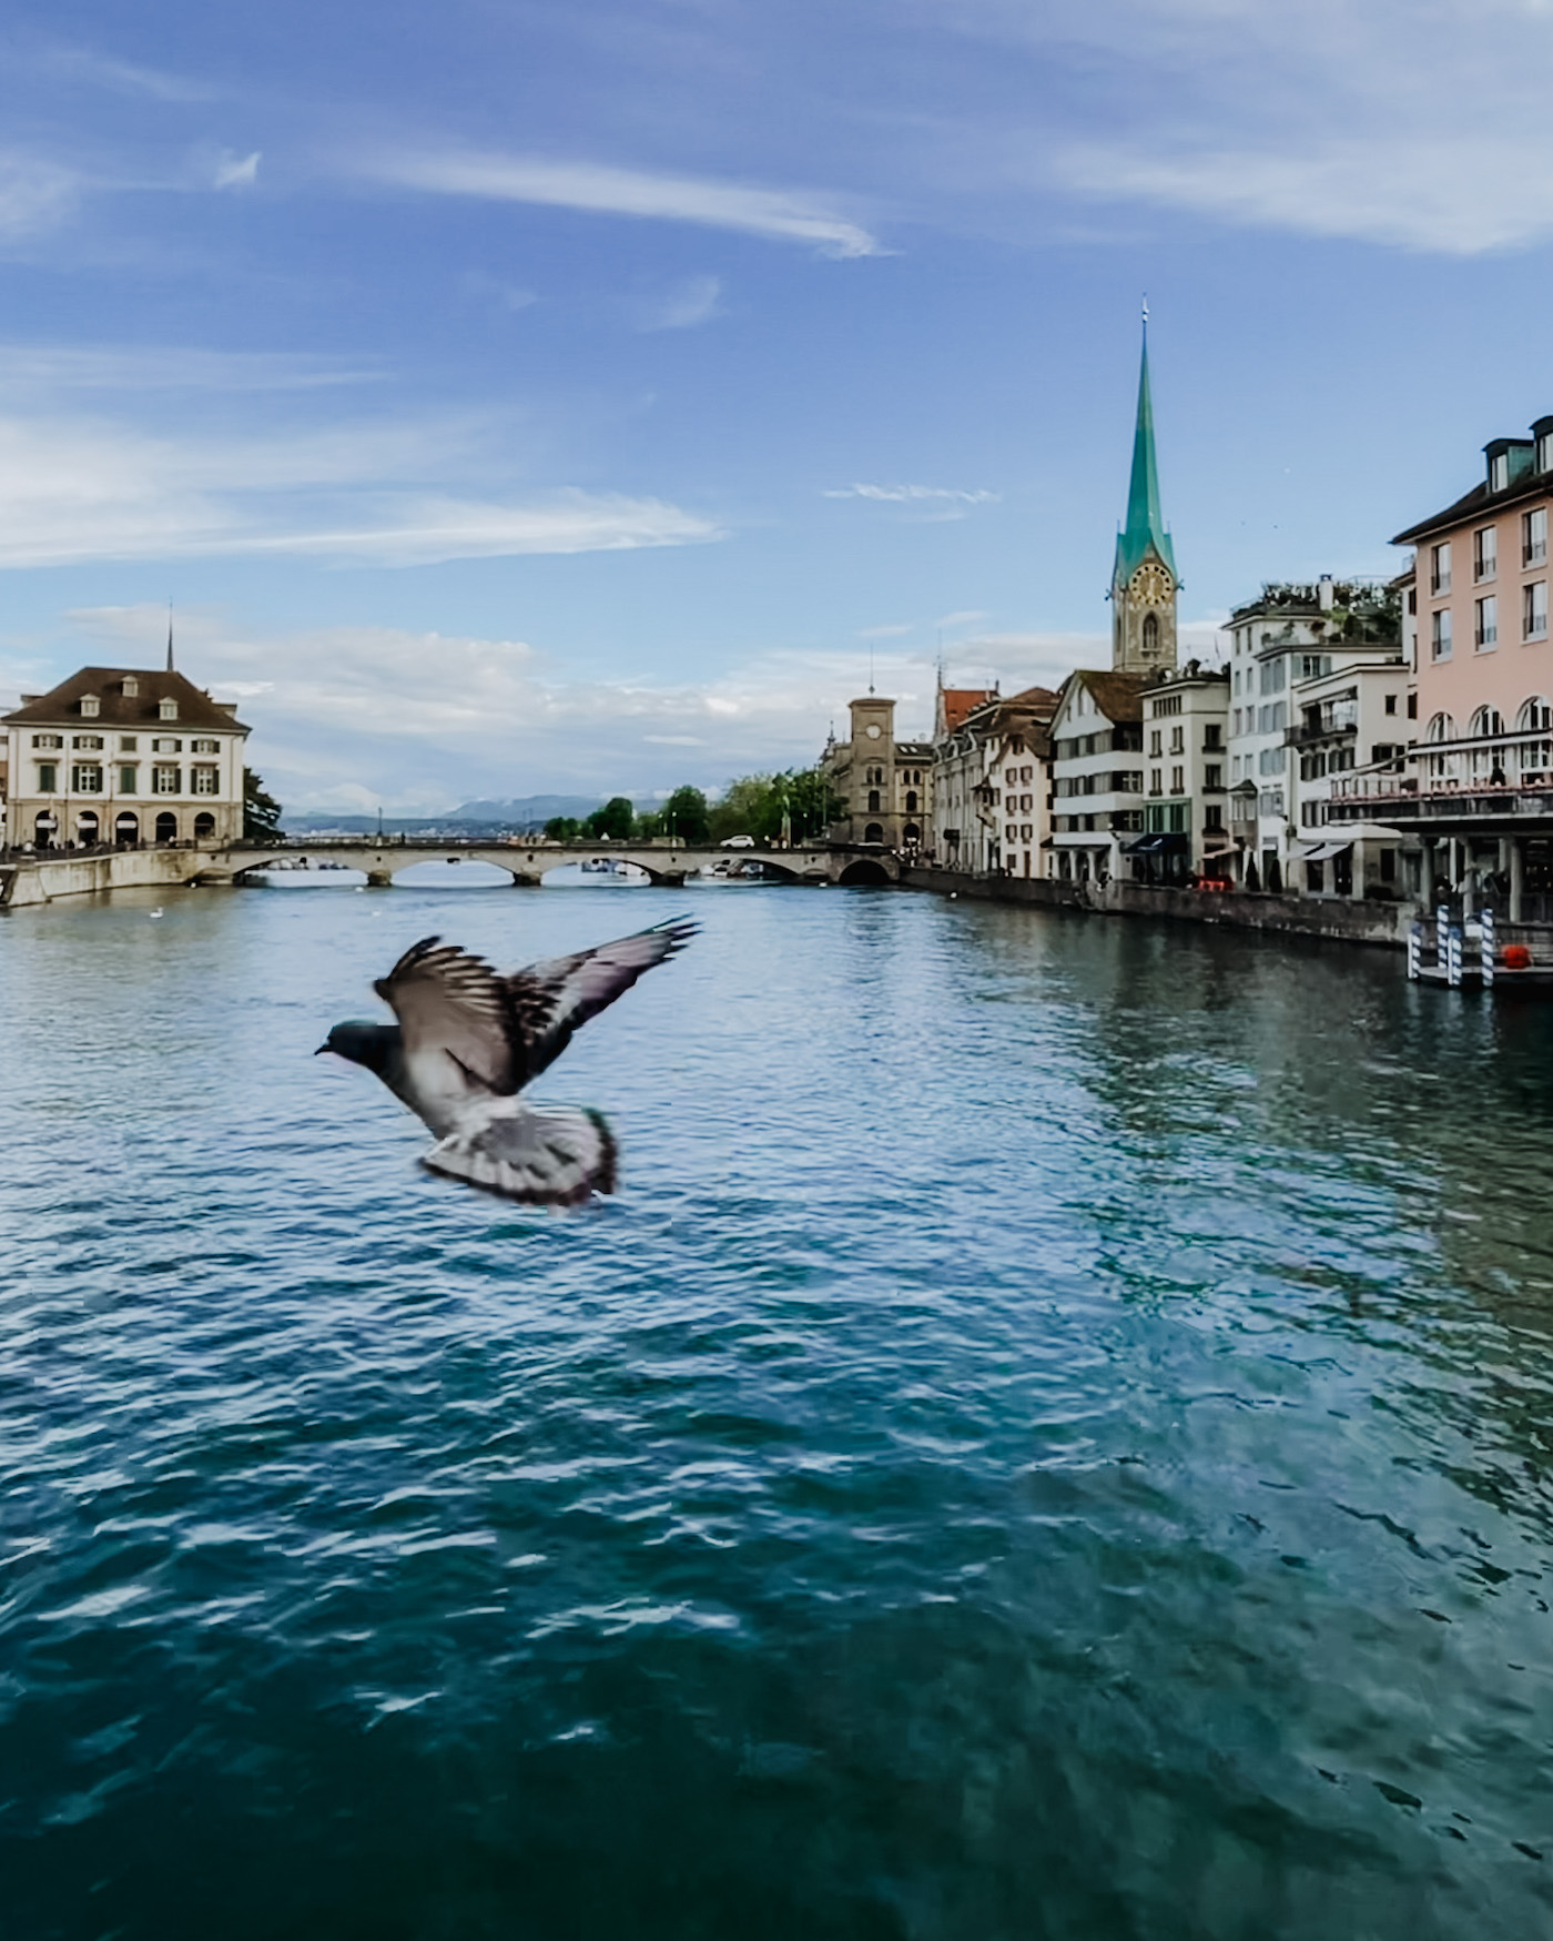
[[[1303,938],[1341,938],[1402,949],[1413,910],[1405,903],[1349,903],[1339,897],[1258,897],[1196,889],[1151,889],[1147,883],[1062,883],[1050,877],[959,875],[953,870],[905,870],[907,889],[988,903],[1035,903],[1042,908],[1099,910],[1105,916],[1165,916],[1235,930],[1281,930]]]

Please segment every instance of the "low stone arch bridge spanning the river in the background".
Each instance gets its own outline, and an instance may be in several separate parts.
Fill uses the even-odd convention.
[[[759,862],[790,883],[899,883],[901,864],[879,848],[811,844],[790,850],[691,848],[683,842],[530,842],[479,840],[474,837],[291,837],[272,848],[233,844],[208,852],[200,883],[237,883],[247,872],[278,858],[338,862],[361,870],[373,885],[388,885],[417,862],[489,862],[505,870],[516,887],[538,887],[549,870],[573,862],[633,862],[654,883],[676,887],[693,870],[714,864]]]

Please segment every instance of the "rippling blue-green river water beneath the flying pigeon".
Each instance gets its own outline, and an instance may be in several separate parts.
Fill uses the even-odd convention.
[[[679,906],[545,1087],[611,1203],[309,1056]],[[763,889],[66,903],[0,990],[8,1935],[1547,1931],[1547,1009]]]

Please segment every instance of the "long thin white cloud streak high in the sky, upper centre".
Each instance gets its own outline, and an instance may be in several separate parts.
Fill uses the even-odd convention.
[[[879,243],[866,229],[808,196],[709,177],[470,153],[377,155],[363,165],[363,173],[380,182],[439,196],[532,202],[596,215],[699,223],[784,243],[810,243],[821,256],[881,254]]]

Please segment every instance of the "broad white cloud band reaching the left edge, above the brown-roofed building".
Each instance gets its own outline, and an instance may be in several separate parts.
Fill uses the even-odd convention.
[[[425,483],[479,460],[458,425],[175,441],[70,417],[0,417],[0,565],[291,555],[406,567],[720,538],[710,520],[662,499],[474,497]]]

